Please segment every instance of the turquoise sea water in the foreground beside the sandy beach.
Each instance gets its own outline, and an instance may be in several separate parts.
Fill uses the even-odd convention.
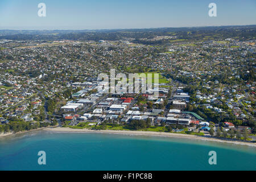
[[[46,152],[46,165],[38,164]],[[209,151],[217,164],[210,165]],[[256,147],[204,140],[32,131],[0,139],[0,170],[255,170]]]

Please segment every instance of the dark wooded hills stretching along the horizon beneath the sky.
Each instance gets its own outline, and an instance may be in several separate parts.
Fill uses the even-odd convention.
[[[0,30],[0,39],[7,40],[133,40],[135,43],[162,44],[145,42],[155,36],[176,36],[177,39],[199,40],[204,37],[255,39],[256,25],[249,26],[212,26],[180,28],[142,28],[115,30]]]

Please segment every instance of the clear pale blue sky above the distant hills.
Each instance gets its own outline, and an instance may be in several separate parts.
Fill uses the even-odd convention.
[[[46,17],[38,4],[46,4]],[[217,17],[208,5],[217,5]],[[1,0],[0,29],[102,29],[256,24],[255,0]]]

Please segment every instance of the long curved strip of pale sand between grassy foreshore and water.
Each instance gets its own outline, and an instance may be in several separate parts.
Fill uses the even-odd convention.
[[[108,134],[143,135],[143,136],[155,136],[155,137],[176,137],[176,138],[200,139],[200,140],[208,140],[212,142],[221,142],[221,143],[256,147],[256,143],[222,140],[217,138],[207,138],[207,137],[200,137],[197,135],[188,135],[188,134],[164,133],[164,132],[157,132],[157,131],[89,130],[89,129],[71,129],[69,127],[44,128],[43,130],[59,132],[59,133],[108,133]]]

